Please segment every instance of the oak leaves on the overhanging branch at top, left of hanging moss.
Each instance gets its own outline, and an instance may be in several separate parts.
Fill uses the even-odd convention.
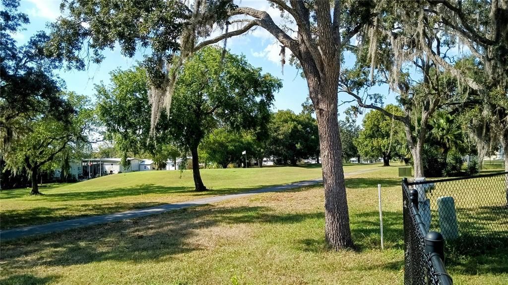
[[[154,55],[147,63],[156,55],[169,59],[179,50],[178,38],[190,17],[183,3],[175,0],[66,0],[60,8],[68,13],[50,25],[47,50],[77,69],[85,68],[86,60],[101,62],[102,52],[115,44],[127,57],[139,48],[150,48]],[[85,56],[83,50],[88,50]]]

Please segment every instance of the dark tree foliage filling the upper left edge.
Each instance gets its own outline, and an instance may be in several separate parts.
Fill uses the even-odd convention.
[[[60,67],[58,59],[49,58],[43,46],[48,41],[44,32],[33,35],[28,43],[17,46],[11,34],[21,31],[29,22],[17,12],[19,1],[3,0],[0,11],[0,133],[4,151],[16,133],[27,131],[25,120],[50,116],[70,122],[74,114],[71,104],[59,92],[63,82],[53,74]]]

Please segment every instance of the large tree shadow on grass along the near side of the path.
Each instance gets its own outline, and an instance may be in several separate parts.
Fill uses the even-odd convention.
[[[322,219],[323,213],[279,215],[270,208],[259,206],[194,207],[96,227],[4,241],[2,260],[10,270],[108,260],[168,260],[176,254],[200,251],[214,242],[236,238],[229,236],[229,231],[218,230],[221,236],[214,236],[213,240],[202,236],[194,239],[198,231],[224,224],[292,224],[316,218]]]

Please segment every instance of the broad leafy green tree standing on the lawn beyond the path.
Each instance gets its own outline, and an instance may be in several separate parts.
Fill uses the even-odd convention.
[[[250,130],[256,137],[266,133],[273,92],[281,82],[261,74],[261,68],[253,67],[243,56],[226,52],[221,62],[222,55],[223,50],[206,47],[185,62],[169,115],[162,114],[152,134],[144,68],[113,72],[110,87],[97,87],[100,118],[124,158],[142,150],[158,162],[165,159],[163,153],[170,156],[166,159],[174,159],[175,150],[171,150],[173,155],[164,150],[173,144],[184,156],[190,152],[195,162],[201,141],[216,128]],[[199,173],[198,164],[193,169]]]

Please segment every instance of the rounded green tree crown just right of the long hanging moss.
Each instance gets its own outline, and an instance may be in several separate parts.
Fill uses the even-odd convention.
[[[207,47],[184,64],[169,116],[170,132],[184,148],[198,147],[214,128],[231,130],[266,128],[273,92],[282,84],[243,56]],[[263,126],[265,125],[265,126]]]

